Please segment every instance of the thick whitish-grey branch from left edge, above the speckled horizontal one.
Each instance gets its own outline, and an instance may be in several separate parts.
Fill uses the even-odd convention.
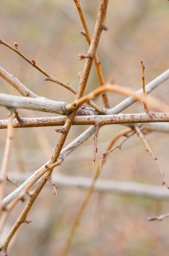
[[[65,109],[68,103],[63,101],[53,101],[45,97],[22,97],[0,93],[0,106],[7,108],[24,108],[42,112],[55,113],[59,115],[68,115],[69,111]],[[93,108],[79,109],[77,115],[98,115],[99,112]]]

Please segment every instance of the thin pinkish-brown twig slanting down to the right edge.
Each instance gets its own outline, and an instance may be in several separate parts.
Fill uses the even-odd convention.
[[[165,175],[164,175],[164,173],[163,173],[163,171],[162,171],[162,169],[161,169],[161,167],[160,167],[160,165],[159,165],[159,163],[158,163],[158,161],[157,161],[157,157],[154,155],[153,151],[151,150],[151,148],[150,148],[150,146],[149,146],[147,140],[145,139],[143,133],[140,131],[140,128],[139,128],[138,126],[134,125],[134,129],[136,130],[137,135],[138,135],[138,137],[140,138],[140,140],[143,142],[143,144],[144,144],[144,146],[145,146],[147,152],[149,152],[149,154],[151,155],[151,157],[154,159],[154,162],[156,163],[156,166],[157,166],[157,168],[158,168],[158,171],[160,172],[160,175],[161,175],[161,177],[162,177],[162,185],[166,185],[166,186],[167,186],[167,189],[169,189],[169,186],[168,186],[168,184],[167,184],[167,182],[166,182],[166,180],[165,180]]]

